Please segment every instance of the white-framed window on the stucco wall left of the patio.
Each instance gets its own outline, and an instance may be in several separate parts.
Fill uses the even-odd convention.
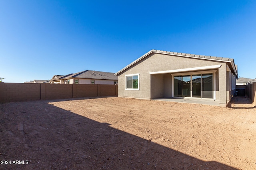
[[[125,75],[125,90],[140,90],[140,74]]]

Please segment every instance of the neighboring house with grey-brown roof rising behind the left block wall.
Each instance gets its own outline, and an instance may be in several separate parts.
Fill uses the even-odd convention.
[[[50,80],[52,84],[117,84],[118,76],[112,72],[85,70],[75,74],[56,76]]]

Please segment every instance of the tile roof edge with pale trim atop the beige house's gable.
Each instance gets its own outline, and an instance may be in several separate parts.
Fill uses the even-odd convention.
[[[162,51],[162,50],[150,50],[150,51],[148,51],[148,53],[142,55],[140,58],[138,58],[134,62],[128,64],[127,66],[125,66],[124,68],[122,68],[121,70],[116,72],[115,75],[117,75],[117,74],[121,73],[122,71],[126,70],[128,67],[132,66],[133,64],[137,63],[138,61],[144,59],[145,57],[147,57],[151,53],[161,53],[161,54],[167,54],[167,55],[176,55],[176,56],[180,56],[180,57],[190,57],[190,58],[195,58],[195,59],[216,60],[216,61],[233,63],[233,65],[234,65],[234,59],[230,59],[230,58],[213,57],[213,56],[209,56],[209,55],[196,55],[196,54],[188,54],[188,53],[178,53],[178,52]],[[232,66],[232,64],[231,64],[231,66]],[[234,65],[232,67],[234,68],[233,73],[235,73],[237,75],[236,66]]]

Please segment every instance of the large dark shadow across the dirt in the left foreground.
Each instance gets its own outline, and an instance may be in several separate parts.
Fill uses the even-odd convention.
[[[0,169],[236,169],[43,101],[0,104],[0,118],[0,160],[28,160]]]

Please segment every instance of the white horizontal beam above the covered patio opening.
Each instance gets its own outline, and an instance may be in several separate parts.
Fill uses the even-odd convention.
[[[165,74],[165,73],[174,73],[174,72],[186,72],[186,71],[197,71],[197,70],[210,70],[214,68],[220,68],[221,64],[213,66],[202,66],[202,67],[193,67],[193,68],[182,68],[177,70],[166,70],[166,71],[156,71],[149,72],[149,74]]]

